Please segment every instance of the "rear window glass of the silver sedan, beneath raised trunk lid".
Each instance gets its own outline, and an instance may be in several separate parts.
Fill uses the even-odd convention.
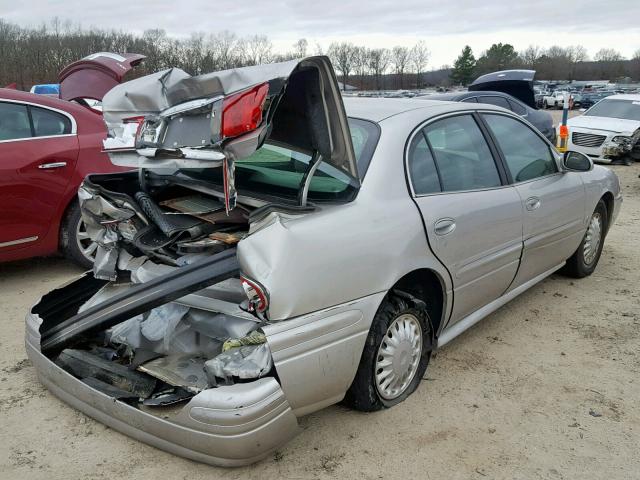
[[[349,130],[355,153],[358,176],[362,180],[380,136],[379,127],[366,120],[349,118]],[[250,192],[266,196],[297,199],[311,154],[293,150],[286,144],[265,143],[252,155],[235,164],[235,186],[239,193]],[[182,170],[187,176],[196,176],[221,184],[221,169]],[[351,200],[357,192],[357,181],[346,173],[321,162],[311,178],[308,198],[316,201]]]

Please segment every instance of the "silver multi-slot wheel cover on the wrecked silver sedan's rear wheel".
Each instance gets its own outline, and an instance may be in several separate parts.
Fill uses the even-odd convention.
[[[375,382],[385,400],[402,395],[411,384],[422,357],[422,327],[409,313],[400,315],[389,326],[378,347]]]

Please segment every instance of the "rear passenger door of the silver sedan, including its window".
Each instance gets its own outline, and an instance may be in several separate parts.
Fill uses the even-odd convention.
[[[407,167],[430,247],[453,280],[451,325],[511,284],[522,248],[522,203],[470,113],[418,130]]]

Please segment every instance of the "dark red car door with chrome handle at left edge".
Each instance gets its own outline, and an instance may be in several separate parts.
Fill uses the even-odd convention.
[[[0,101],[0,254],[44,238],[77,156],[68,114]]]

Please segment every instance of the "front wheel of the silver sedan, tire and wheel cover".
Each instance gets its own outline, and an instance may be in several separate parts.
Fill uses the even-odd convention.
[[[574,278],[583,278],[591,275],[598,265],[602,247],[604,246],[604,237],[608,227],[607,207],[602,200],[596,205],[587,231],[584,234],[582,242],[578,249],[567,260],[561,272]]]

